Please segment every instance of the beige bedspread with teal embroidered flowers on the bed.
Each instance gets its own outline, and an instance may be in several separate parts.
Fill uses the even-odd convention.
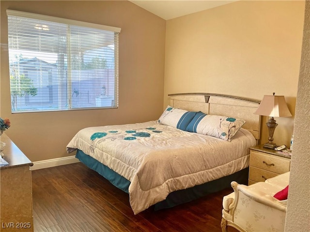
[[[67,152],[82,150],[128,179],[130,205],[138,214],[172,191],[248,167],[253,145],[254,137],[244,129],[227,142],[150,121],[82,129]]]

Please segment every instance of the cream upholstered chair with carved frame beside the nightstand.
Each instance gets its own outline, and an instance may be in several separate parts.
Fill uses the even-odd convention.
[[[284,231],[287,200],[273,196],[288,182],[289,172],[250,186],[233,181],[233,192],[223,198],[222,232],[227,232],[227,226],[240,232]]]

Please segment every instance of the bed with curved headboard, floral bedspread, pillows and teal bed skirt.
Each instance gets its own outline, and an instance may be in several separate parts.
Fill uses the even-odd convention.
[[[248,179],[249,147],[260,135],[260,116],[253,113],[260,102],[207,93],[169,96],[158,120],[85,128],[67,145],[68,153],[77,151],[82,163],[129,194],[134,214]]]

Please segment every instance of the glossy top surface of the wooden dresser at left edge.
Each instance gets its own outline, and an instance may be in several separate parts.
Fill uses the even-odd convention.
[[[0,169],[13,168],[17,166],[32,166],[33,163],[19,150],[19,148],[12,142],[12,140],[3,133],[0,137],[1,142],[5,143],[3,159],[9,164],[0,166]]]

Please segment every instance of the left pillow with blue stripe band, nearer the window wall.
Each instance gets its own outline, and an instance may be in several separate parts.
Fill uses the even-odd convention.
[[[193,119],[196,113],[197,112],[186,111],[168,105],[164,113],[159,117],[158,123],[185,131],[188,123]]]

